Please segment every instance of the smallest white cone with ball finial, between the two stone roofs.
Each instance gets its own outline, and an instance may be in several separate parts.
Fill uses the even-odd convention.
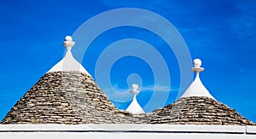
[[[138,85],[132,84],[131,87],[132,87],[131,94],[133,95],[133,100],[131,101],[131,104],[129,105],[129,107],[127,107],[126,111],[131,113],[145,113],[143,108],[137,102],[136,96],[139,93],[139,91],[137,90]]]

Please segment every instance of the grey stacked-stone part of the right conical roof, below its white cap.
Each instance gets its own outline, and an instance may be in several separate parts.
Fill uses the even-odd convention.
[[[154,110],[151,124],[172,125],[255,125],[236,110],[203,96],[183,97]]]

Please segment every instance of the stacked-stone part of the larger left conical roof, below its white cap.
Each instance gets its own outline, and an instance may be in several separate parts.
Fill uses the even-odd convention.
[[[146,123],[120,111],[83,72],[48,72],[10,110],[2,124]]]

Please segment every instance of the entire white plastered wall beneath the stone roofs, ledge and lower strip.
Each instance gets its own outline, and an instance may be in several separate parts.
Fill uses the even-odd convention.
[[[255,139],[255,129],[240,125],[0,125],[0,138]]]

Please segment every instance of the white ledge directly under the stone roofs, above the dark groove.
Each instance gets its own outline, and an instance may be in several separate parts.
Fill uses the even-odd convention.
[[[255,134],[256,126],[242,125],[143,125],[143,124],[88,124],[88,125],[0,125],[0,132],[29,131],[132,131],[132,132],[195,132]]]

